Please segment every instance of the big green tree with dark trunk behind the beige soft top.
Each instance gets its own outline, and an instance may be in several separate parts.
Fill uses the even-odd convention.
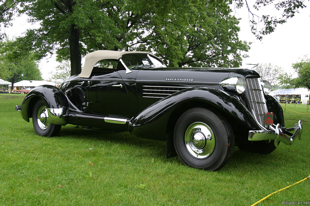
[[[15,13],[40,22],[40,28],[28,30],[25,47],[35,48],[41,57],[56,50],[59,61],[70,59],[73,75],[81,72],[86,51],[123,50],[126,42],[143,35],[143,25],[149,24],[155,12],[151,4],[142,0],[5,0],[0,15],[5,23]]]

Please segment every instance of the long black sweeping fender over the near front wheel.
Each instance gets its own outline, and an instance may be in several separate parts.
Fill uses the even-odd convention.
[[[223,90],[193,87],[157,101],[133,117],[129,123],[131,134],[147,139],[166,140],[168,120],[180,104],[200,101],[237,120],[249,129],[260,128],[250,111],[235,97]],[[189,109],[189,108],[188,108]]]

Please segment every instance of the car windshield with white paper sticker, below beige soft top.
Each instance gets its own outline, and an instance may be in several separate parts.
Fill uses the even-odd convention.
[[[149,54],[124,55],[122,61],[129,69],[135,66],[166,67],[161,60],[152,57]]]

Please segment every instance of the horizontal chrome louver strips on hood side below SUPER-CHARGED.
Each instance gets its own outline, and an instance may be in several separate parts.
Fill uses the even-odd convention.
[[[149,98],[165,98],[175,92],[191,88],[184,86],[143,86],[143,96]]]

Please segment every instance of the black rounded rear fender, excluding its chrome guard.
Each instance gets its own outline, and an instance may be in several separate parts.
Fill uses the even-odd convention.
[[[21,116],[27,122],[29,122],[29,118],[32,115],[32,108],[38,98],[43,99],[47,103],[48,108],[58,109],[68,107],[68,100],[59,88],[51,85],[34,87],[22,103]]]

